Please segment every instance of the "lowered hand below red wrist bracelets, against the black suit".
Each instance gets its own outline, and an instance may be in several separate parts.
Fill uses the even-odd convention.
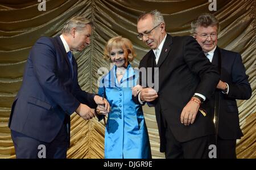
[[[196,119],[196,114],[199,110],[200,105],[196,103],[195,101],[190,100],[187,105],[183,108],[181,115],[180,115],[180,121],[181,124],[184,124],[185,126],[193,124],[193,122]]]

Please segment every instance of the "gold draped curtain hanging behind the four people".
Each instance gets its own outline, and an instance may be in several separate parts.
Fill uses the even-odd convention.
[[[82,90],[97,92],[100,67],[110,69],[103,58],[106,41],[122,35],[130,39],[137,52],[133,67],[148,48],[137,39],[137,17],[144,11],[158,9],[164,15],[166,29],[173,36],[190,35],[190,23],[203,12],[209,12],[210,2],[154,1],[154,0],[48,0],[46,11],[39,11],[36,0],[0,1],[0,158],[15,158],[9,121],[11,104],[22,83],[24,65],[31,46],[40,36],[56,36],[65,21],[82,15],[94,22],[91,44],[81,53],[75,53],[79,66],[79,84]],[[256,158],[255,111],[255,1],[218,0],[217,11],[221,31],[218,46],[239,52],[253,89],[250,100],[238,100],[240,125],[244,137],[237,141],[238,158]],[[175,96],[170,96],[175,97]],[[153,108],[144,107],[153,158],[164,158],[159,152],[159,135]],[[76,113],[71,116],[71,147],[68,158],[104,158],[103,122],[96,118],[84,121]]]

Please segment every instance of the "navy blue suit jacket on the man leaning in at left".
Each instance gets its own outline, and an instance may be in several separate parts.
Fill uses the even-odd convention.
[[[51,142],[80,103],[96,108],[94,94],[81,90],[59,36],[41,37],[32,47],[23,83],[11,108],[9,127],[28,137]],[[68,131],[69,132],[69,131]]]

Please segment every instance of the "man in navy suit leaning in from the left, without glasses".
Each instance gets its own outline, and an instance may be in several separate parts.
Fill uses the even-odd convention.
[[[72,51],[90,43],[92,23],[76,16],[56,37],[41,37],[32,47],[23,83],[11,109],[9,127],[16,158],[66,158],[70,116],[94,117],[102,97],[82,91]]]

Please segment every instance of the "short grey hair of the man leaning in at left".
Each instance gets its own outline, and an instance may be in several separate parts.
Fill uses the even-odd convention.
[[[70,34],[72,28],[76,28],[77,31],[81,31],[86,25],[93,25],[88,19],[84,18],[83,16],[74,16],[73,18],[69,19],[67,23],[65,23],[61,33],[64,35]]]

